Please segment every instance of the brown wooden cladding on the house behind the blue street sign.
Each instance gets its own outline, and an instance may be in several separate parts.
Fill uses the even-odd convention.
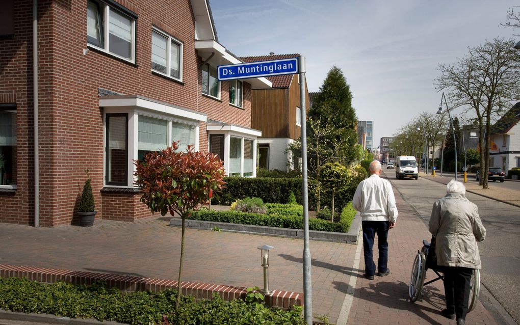
[[[308,91],[305,97],[308,112]],[[251,127],[261,130],[263,138],[297,139],[302,131],[296,125],[296,107],[301,108],[300,84],[296,74],[289,88],[253,89]]]

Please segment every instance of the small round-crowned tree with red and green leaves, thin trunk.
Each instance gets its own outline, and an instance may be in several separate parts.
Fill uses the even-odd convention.
[[[222,180],[224,166],[215,154],[193,152],[193,146],[188,146],[187,152],[177,152],[178,148],[178,142],[173,142],[171,147],[160,152],[148,153],[144,161],[134,161],[137,176],[135,184],[143,192],[141,202],[152,212],[160,212],[162,216],[177,213],[183,220],[175,309],[179,308],[182,289],[186,217],[206,202],[213,190],[225,184]]]

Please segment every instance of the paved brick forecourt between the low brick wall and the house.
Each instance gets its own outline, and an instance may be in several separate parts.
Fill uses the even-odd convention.
[[[93,227],[0,224],[0,264],[177,280],[180,228],[169,218],[138,223],[96,220]],[[269,289],[303,292],[303,241],[186,229],[183,281],[262,287],[257,246],[269,244]],[[313,312],[336,322],[357,245],[310,241]],[[361,272],[362,273],[362,272]]]

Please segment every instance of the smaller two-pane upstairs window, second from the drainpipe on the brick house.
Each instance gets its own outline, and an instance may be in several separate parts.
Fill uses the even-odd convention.
[[[152,31],[152,70],[181,80],[183,44],[157,30]]]

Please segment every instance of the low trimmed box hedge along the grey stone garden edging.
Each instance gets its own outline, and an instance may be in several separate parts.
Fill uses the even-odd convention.
[[[303,212],[303,208],[302,208]],[[309,230],[330,231],[330,232],[348,232],[356,211],[352,208],[352,203],[347,204],[341,215],[340,221],[332,223],[328,220],[310,218]],[[215,210],[199,210],[194,211],[189,219],[203,220],[210,222],[255,225],[266,227],[303,229],[302,216],[286,216],[280,214],[256,214],[244,213],[238,211],[215,211]]]

